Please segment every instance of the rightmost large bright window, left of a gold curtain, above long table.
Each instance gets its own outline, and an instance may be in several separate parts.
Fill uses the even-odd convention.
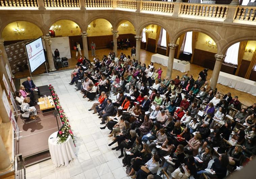
[[[240,44],[240,42],[235,43],[235,44],[233,44],[232,46],[230,46],[228,48],[227,53],[226,53],[226,57],[225,57],[225,60],[224,60],[225,63],[237,65],[239,44]]]

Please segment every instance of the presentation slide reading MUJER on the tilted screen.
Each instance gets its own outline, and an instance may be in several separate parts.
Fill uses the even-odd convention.
[[[26,51],[31,73],[45,62],[42,38],[39,37],[26,44]]]

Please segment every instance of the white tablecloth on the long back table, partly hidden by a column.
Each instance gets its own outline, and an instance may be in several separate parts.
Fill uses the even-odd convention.
[[[160,54],[154,54],[151,56],[151,62],[162,64],[163,66],[167,66],[168,64],[168,58],[165,55]],[[178,63],[180,60],[174,59],[173,62],[173,69],[179,70],[181,72],[189,71],[190,63],[184,65],[181,63]]]

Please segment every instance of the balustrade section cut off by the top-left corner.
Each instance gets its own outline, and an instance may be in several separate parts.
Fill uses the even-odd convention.
[[[0,7],[37,7],[36,0],[0,0]]]

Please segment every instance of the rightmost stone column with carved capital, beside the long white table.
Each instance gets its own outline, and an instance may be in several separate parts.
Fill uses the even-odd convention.
[[[214,69],[212,72],[212,77],[211,77],[211,89],[216,88],[217,85],[217,81],[220,75],[220,71],[221,71],[221,65],[223,60],[225,59],[226,55],[219,55],[219,54],[215,54],[215,65],[214,65]]]

